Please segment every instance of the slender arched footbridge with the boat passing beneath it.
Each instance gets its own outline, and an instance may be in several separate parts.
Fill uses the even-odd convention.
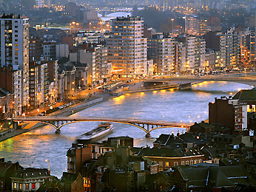
[[[16,117],[13,118],[13,127],[16,128],[18,122],[37,122],[44,123],[53,126],[55,133],[61,132],[61,127],[70,123],[98,121],[98,122],[111,122],[111,123],[124,123],[130,126],[141,128],[146,132],[146,137],[150,137],[150,132],[158,128],[186,128],[186,130],[192,125],[192,123],[177,123],[160,120],[139,120],[136,118],[112,118],[112,117]]]

